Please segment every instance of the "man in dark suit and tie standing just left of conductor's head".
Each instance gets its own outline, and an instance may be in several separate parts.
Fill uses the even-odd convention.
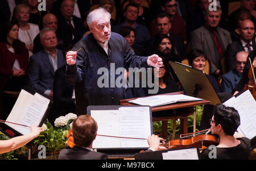
[[[56,31],[56,35],[60,37],[67,46],[71,47],[76,44],[84,34],[80,32],[80,30],[84,28],[84,24],[81,18],[77,18],[73,15],[74,9],[75,4],[73,0],[64,0],[60,6],[61,15],[56,15],[58,19],[57,27],[61,28]]]

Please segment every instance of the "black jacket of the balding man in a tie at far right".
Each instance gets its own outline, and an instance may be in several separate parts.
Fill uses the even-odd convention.
[[[253,41],[252,48],[254,50],[256,49],[255,41]],[[235,68],[236,55],[238,52],[241,52],[241,51],[245,51],[245,48],[243,48],[242,46],[241,40],[233,41],[233,43],[228,45],[225,53],[226,72]]]

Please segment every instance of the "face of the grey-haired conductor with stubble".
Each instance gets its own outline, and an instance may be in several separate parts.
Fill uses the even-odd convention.
[[[110,19],[107,15],[102,15],[89,26],[94,38],[100,43],[105,43],[111,36]]]

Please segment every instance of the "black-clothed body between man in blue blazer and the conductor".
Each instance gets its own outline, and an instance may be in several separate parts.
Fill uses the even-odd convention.
[[[69,85],[65,77],[67,66],[57,69],[53,81],[53,105],[55,107],[55,118],[76,113],[75,90],[73,85]]]

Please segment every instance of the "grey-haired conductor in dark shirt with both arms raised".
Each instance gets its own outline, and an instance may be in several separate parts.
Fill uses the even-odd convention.
[[[78,115],[86,114],[89,105],[118,105],[125,97],[125,88],[115,85],[115,76],[121,75],[115,68],[162,66],[158,55],[135,56],[126,39],[111,32],[110,18],[109,12],[102,8],[90,12],[86,21],[92,33],[81,39],[66,56],[67,80],[75,84]],[[102,73],[106,78],[104,86],[99,81]]]

